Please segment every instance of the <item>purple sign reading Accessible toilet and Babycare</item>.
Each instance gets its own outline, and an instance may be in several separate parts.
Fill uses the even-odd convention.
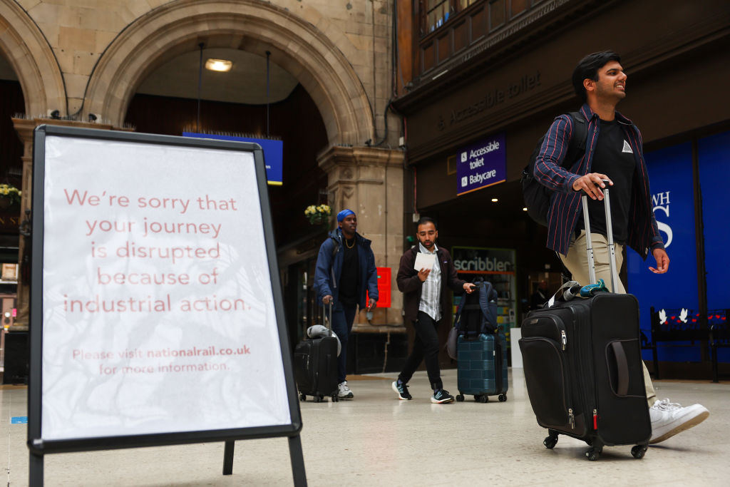
[[[470,145],[457,154],[456,194],[462,195],[507,180],[504,132]]]

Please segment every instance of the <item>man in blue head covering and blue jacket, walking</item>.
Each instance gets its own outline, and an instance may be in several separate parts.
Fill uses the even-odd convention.
[[[332,331],[342,351],[337,359],[337,395],[352,399],[353,391],[345,380],[347,337],[353,329],[357,307],[372,310],[377,302],[377,270],[370,240],[357,233],[358,218],[353,210],[337,213],[337,229],[329,232],[320,246],[315,270],[315,293],[323,304],[333,305]],[[369,302],[366,303],[366,292]]]

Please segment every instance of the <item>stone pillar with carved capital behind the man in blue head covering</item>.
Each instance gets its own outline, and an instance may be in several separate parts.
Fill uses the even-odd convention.
[[[377,308],[370,325],[361,312],[355,331],[404,331],[403,299],[396,285],[403,253],[403,162],[401,150],[332,146],[318,156],[328,175],[328,199],[335,214],[350,208],[358,233],[372,240],[375,265],[391,268],[391,307]],[[386,327],[379,325],[388,325]]]

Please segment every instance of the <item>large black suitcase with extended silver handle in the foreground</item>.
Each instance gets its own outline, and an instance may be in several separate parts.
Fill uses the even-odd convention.
[[[607,189],[604,202],[612,280],[618,280]],[[594,266],[586,196],[583,214],[588,261]],[[543,444],[553,448],[558,434],[566,434],[588,443],[589,460],[612,445],[634,445],[631,455],[641,459],[651,423],[636,297],[602,292],[588,299],[553,299],[546,306],[529,312],[520,340],[530,404],[537,423],[548,429]]]

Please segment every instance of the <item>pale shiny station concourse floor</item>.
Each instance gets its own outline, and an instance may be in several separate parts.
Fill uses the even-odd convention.
[[[379,377],[380,376],[380,377]],[[660,398],[700,402],[710,418],[649,448],[606,447],[587,461],[583,442],[560,437],[542,445],[521,369],[510,372],[507,402],[431,404],[425,372],[410,383],[412,401],[391,391],[395,374],[354,377],[356,397],[301,403],[304,462],[310,486],[728,486],[730,385],[657,382]],[[444,373],[456,389],[456,371]],[[369,380],[368,380],[369,379]],[[0,390],[9,486],[28,483],[26,388]],[[4,461],[2,463],[5,463]],[[45,457],[46,486],[291,486],[284,438],[236,443],[233,475],[221,475],[223,443],[64,453]],[[0,479],[0,483],[4,480]]]

